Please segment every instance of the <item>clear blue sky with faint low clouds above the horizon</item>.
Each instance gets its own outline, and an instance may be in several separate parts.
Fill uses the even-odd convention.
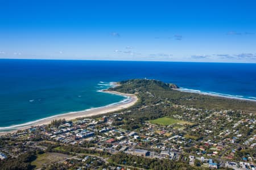
[[[0,58],[256,62],[255,1],[3,1]]]

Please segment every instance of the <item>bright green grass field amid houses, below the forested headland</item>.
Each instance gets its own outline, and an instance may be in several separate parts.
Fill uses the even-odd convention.
[[[185,124],[192,125],[193,124],[191,122],[177,120],[177,119],[170,118],[170,117],[160,117],[160,118],[157,118],[157,119],[154,119],[154,120],[150,120],[150,123],[151,124],[164,125],[164,126],[174,125],[174,124],[180,124],[180,125],[185,125]]]

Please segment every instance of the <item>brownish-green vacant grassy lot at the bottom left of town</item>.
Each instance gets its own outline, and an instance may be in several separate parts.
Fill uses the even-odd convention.
[[[56,163],[67,158],[71,158],[71,155],[65,155],[55,152],[46,152],[42,155],[38,155],[38,158],[31,162],[31,165],[35,165],[36,169],[38,169],[42,168],[43,165],[47,165],[49,163]]]

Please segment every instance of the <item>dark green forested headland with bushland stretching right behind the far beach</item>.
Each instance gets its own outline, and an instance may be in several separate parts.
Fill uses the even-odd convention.
[[[128,94],[137,94],[141,104],[156,104],[162,100],[169,100],[172,104],[189,105],[196,108],[207,109],[233,109],[244,112],[256,113],[254,101],[229,99],[225,97],[193,94],[190,92],[177,91],[172,84],[159,80],[132,79],[120,82],[121,86],[110,88]]]

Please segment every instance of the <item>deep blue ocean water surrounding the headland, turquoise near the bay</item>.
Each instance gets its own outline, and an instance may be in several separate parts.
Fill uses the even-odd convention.
[[[117,103],[98,90],[134,78],[256,100],[255,63],[0,59],[0,127]]]

